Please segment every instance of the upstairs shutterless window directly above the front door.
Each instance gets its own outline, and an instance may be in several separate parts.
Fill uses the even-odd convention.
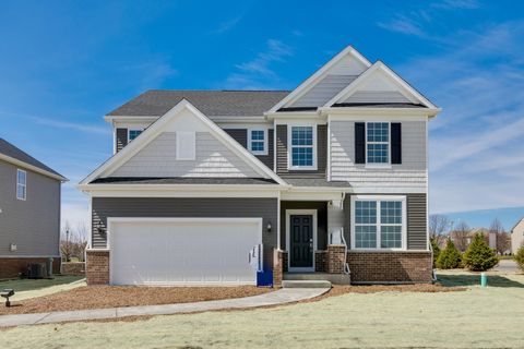
[[[313,127],[290,127],[290,168],[315,169],[314,145],[317,132]]]

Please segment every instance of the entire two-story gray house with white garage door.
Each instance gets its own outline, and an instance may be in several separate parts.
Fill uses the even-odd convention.
[[[347,47],[291,92],[148,91],[109,112],[87,281],[275,284],[350,270],[428,282],[428,121],[440,109]],[[347,245],[347,253],[346,253]]]

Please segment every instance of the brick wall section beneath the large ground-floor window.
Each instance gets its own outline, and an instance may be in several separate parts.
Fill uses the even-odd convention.
[[[430,252],[348,251],[352,282],[430,282]]]

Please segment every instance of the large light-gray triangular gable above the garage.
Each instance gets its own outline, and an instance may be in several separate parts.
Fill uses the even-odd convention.
[[[182,137],[183,142],[179,142]],[[188,152],[193,142],[194,152]],[[284,184],[187,100],[160,117],[81,184],[104,178],[263,178]]]

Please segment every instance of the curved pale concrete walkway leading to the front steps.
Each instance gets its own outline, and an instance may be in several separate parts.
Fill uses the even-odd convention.
[[[278,305],[311,299],[327,292],[327,288],[283,288],[264,294],[226,299],[218,301],[206,301],[195,303],[179,303],[164,305],[142,305],[108,308],[94,310],[79,310],[67,312],[50,312],[37,314],[14,314],[1,315],[0,327],[50,324],[69,321],[85,321],[99,318],[120,318],[126,316],[140,315],[168,315],[178,313],[194,313],[223,309],[247,309],[264,305]]]

